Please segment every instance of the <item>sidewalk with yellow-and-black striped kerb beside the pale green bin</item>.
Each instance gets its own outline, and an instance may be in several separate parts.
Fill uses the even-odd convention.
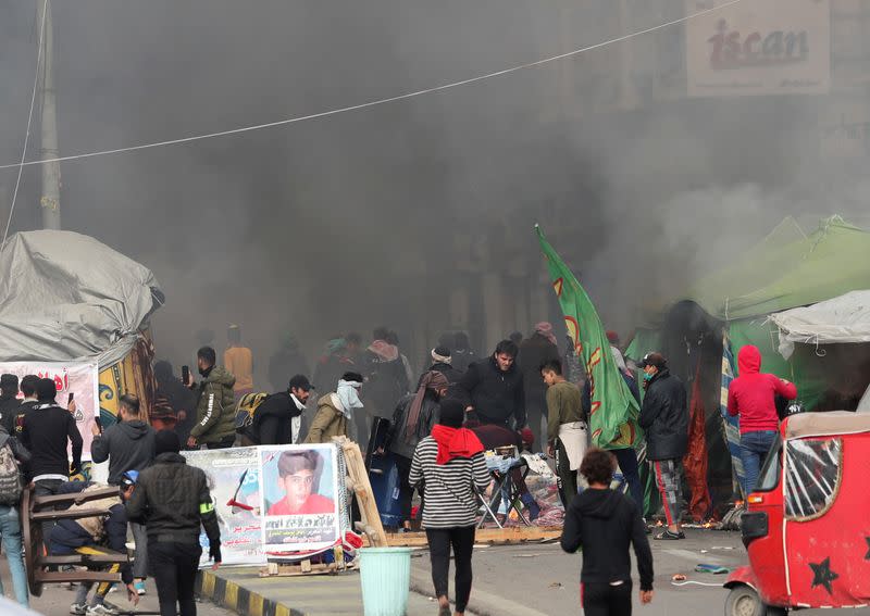
[[[260,567],[222,567],[217,571],[204,569],[197,581],[197,590],[202,599],[240,616],[362,614],[359,570],[336,575],[268,578],[261,578],[259,570]],[[412,583],[413,586],[415,584]],[[428,595],[410,593],[407,616],[435,616],[437,613],[438,605],[435,601],[430,601]]]

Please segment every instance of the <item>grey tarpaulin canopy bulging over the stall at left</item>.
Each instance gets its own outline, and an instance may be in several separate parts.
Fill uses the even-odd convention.
[[[0,252],[0,361],[112,365],[162,303],[150,269],[94,238],[16,234]]]

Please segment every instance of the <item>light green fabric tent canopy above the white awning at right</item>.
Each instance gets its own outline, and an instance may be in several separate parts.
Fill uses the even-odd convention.
[[[870,289],[870,232],[833,216],[805,237],[786,218],[761,243],[692,287],[708,314],[736,320]]]

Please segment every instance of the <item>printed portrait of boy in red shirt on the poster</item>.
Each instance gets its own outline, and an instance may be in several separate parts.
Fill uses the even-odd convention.
[[[285,451],[278,457],[278,488],[284,498],[266,515],[311,515],[335,512],[335,501],[314,492],[323,465],[315,451]]]

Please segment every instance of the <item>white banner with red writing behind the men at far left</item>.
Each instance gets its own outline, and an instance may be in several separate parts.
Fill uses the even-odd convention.
[[[99,413],[99,372],[96,362],[3,362],[0,374],[13,374],[21,379],[27,375],[50,378],[58,390],[58,405],[65,408],[73,394],[75,423],[82,433],[82,458],[90,460],[91,427]],[[18,393],[18,398],[23,398]]]

